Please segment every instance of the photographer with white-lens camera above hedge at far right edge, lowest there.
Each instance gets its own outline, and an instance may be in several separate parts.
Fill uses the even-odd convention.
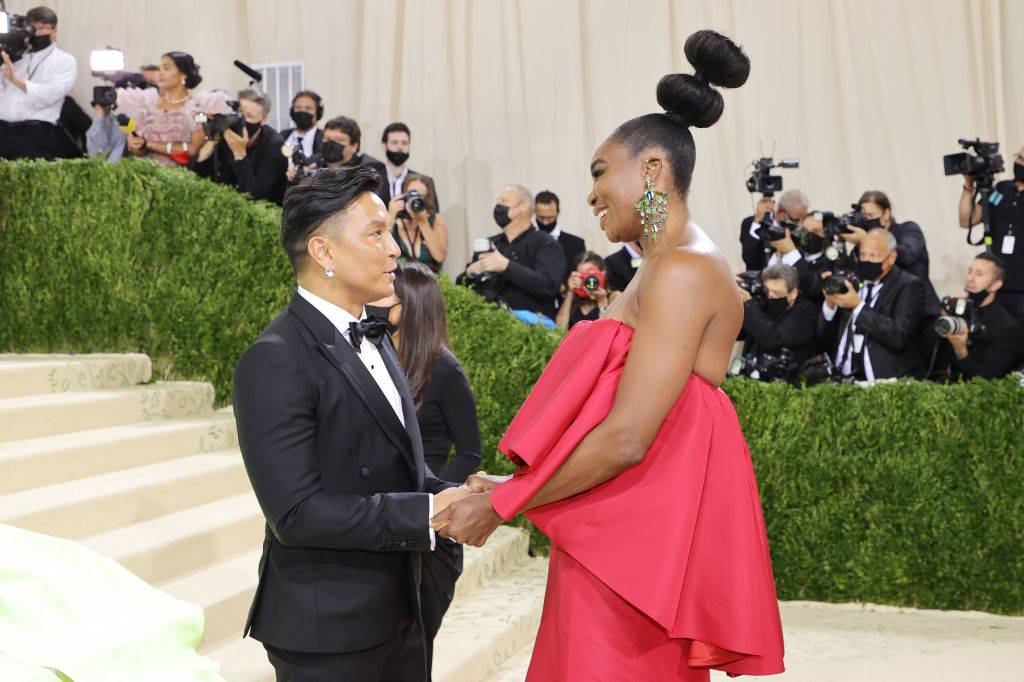
[[[939,347],[942,374],[951,380],[996,379],[1012,371],[1024,354],[1024,328],[1002,306],[1001,289],[1006,278],[1006,264],[991,253],[978,254],[967,270],[964,284],[965,296],[946,299],[947,317],[935,326],[948,343]],[[956,314],[955,306],[964,305],[968,314]]]

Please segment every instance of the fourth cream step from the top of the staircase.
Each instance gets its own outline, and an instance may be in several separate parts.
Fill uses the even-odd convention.
[[[0,496],[0,523],[79,540],[248,489],[238,451],[194,455]]]

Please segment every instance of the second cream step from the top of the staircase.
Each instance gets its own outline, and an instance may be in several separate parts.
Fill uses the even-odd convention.
[[[199,382],[0,399],[0,442],[213,411],[213,386]]]

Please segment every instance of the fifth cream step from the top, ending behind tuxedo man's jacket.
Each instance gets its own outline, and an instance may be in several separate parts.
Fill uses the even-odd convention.
[[[265,520],[252,492],[159,516],[82,544],[146,583],[165,583],[262,547]]]

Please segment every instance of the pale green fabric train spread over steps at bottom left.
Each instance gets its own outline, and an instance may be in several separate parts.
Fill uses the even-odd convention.
[[[203,609],[68,540],[0,524],[0,679],[223,682]]]

